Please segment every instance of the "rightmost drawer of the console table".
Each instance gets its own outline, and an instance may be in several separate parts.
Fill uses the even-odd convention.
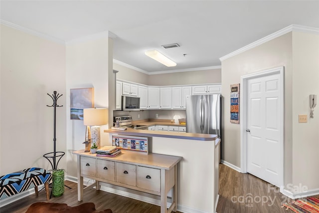
[[[160,192],[160,170],[138,166],[138,187]]]

